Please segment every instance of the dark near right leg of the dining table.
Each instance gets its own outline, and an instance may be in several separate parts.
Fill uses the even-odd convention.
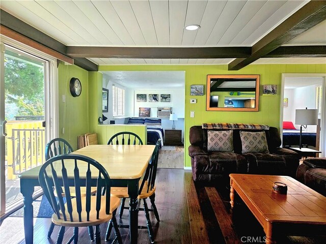
[[[138,242],[138,182],[139,179],[128,180],[130,243],[134,244]]]

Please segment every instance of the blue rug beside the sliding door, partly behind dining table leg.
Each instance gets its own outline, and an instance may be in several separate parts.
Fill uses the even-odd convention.
[[[39,197],[33,201],[33,217],[34,218],[51,218],[53,210],[50,203],[46,197]],[[13,212],[10,217],[23,217],[24,209],[19,208],[17,211]]]

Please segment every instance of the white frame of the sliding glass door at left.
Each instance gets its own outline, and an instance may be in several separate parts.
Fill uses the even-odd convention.
[[[35,48],[31,48],[27,45],[19,43],[15,40],[7,38],[3,35],[1,37],[1,81],[0,81],[0,90],[5,90],[5,81],[4,81],[4,56],[5,56],[5,44],[18,49],[21,52],[28,53],[29,55],[36,56],[37,58],[45,60],[44,65],[44,100],[45,100],[45,143],[46,141],[56,138],[59,135],[59,84],[58,84],[58,69],[57,69],[57,59],[45,54]],[[0,93],[0,125],[5,119],[5,95]],[[5,137],[2,136],[2,127],[0,131],[0,167],[4,168],[5,166]],[[4,181],[5,171],[0,170],[0,180]],[[0,216],[5,216],[8,214],[6,210],[6,189],[5,184],[0,184]],[[21,205],[21,204],[20,204]],[[18,206],[18,205],[17,205]]]

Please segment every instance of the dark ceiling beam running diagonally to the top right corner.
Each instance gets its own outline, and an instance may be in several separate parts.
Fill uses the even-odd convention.
[[[326,1],[311,1],[268,33],[254,46],[248,58],[236,58],[229,70],[239,70],[326,19]]]

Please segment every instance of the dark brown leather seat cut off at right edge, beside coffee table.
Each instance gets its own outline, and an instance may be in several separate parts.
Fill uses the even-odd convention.
[[[297,168],[296,179],[326,197],[326,158],[308,158]]]

